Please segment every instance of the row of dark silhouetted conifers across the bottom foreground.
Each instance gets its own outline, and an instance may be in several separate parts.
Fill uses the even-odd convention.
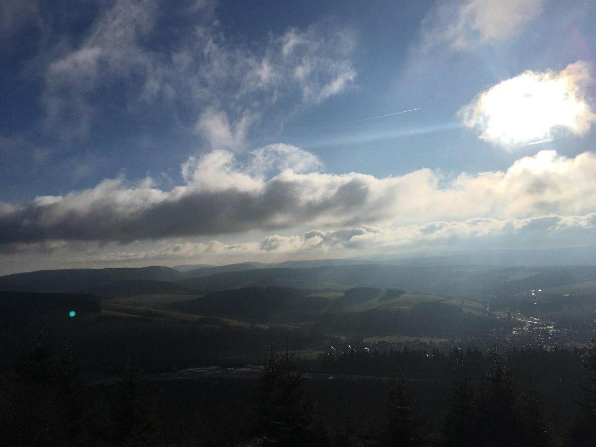
[[[421,352],[399,355],[431,358]],[[385,359],[399,355],[387,353]],[[306,396],[307,379],[294,355],[271,346],[247,406],[243,429],[238,429],[238,421],[238,427],[227,427],[228,432],[237,431],[234,436],[218,439],[213,435],[217,430],[201,420],[193,435],[172,442],[160,424],[164,415],[157,403],[156,387],[144,379],[134,353],[129,351],[123,359],[115,383],[94,388],[72,346],[53,347],[48,331],[41,330],[11,373],[2,378],[0,445],[596,445],[596,341],[581,352],[582,374],[577,388],[566,390],[575,393],[575,406],[567,409],[575,415],[563,434],[554,430],[547,417],[547,406],[536,386],[538,375],[530,370],[524,380],[514,377],[511,359],[515,361],[520,355],[501,352],[497,346],[486,354],[454,349],[445,355],[452,368],[447,411],[429,429],[416,411],[411,371],[405,374],[399,366],[392,371],[382,402],[373,402],[380,407],[378,417],[359,420],[337,401],[336,412],[341,417],[339,423],[332,424],[316,396]],[[532,355],[548,359],[548,354],[526,353],[530,361]],[[357,357],[352,354],[352,361]],[[373,365],[374,358],[368,356]],[[438,353],[437,358],[441,358]],[[358,359],[364,362],[367,357]],[[483,371],[479,376],[480,365]],[[104,392],[109,393],[109,399],[96,399]]]

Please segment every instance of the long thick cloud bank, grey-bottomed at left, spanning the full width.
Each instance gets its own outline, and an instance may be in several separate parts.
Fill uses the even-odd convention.
[[[586,215],[596,208],[592,153],[568,159],[541,151],[505,171],[449,179],[430,169],[386,178],[321,173],[312,154],[307,164],[296,157],[308,154],[301,151],[271,145],[253,151],[244,162],[224,150],[191,157],[182,165],[185,184],[169,191],[147,179],[131,184],[117,178],[89,190],[4,204],[0,248],[50,241],[131,243],[305,226],[401,228],[437,221]],[[263,175],[268,169],[280,171]],[[426,231],[430,237],[439,229],[429,226]],[[322,234],[312,237],[325,239]]]

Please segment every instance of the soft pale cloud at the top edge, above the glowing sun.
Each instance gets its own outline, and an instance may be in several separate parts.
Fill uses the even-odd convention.
[[[468,49],[476,42],[510,39],[542,11],[544,0],[440,2],[422,23],[423,48]]]

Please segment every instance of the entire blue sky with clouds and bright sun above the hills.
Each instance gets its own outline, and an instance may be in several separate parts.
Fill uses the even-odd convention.
[[[591,246],[591,0],[0,2],[0,274]]]

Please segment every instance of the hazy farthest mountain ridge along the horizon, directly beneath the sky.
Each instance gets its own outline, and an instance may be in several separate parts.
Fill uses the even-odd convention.
[[[315,263],[320,262],[322,261]],[[309,263],[301,262],[298,265]],[[100,296],[131,296],[206,294],[243,287],[293,287],[309,290],[374,287],[442,296],[483,297],[589,281],[596,281],[596,266],[494,268],[482,265],[349,263],[280,267],[262,263],[238,263],[187,272],[164,266],[45,270],[0,277],[0,290],[64,293],[88,291]]]

